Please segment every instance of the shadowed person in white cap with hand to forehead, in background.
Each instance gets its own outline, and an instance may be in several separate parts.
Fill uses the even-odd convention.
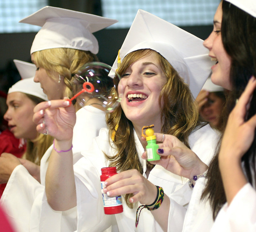
[[[208,78],[196,97],[200,116],[212,124],[215,128],[221,130],[224,118],[223,108],[226,103],[226,93],[224,89],[213,84],[211,78]]]

